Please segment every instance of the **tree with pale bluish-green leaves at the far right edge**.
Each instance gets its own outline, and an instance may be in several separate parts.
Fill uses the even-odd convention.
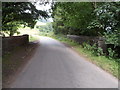
[[[120,46],[120,2],[103,3],[95,9],[95,14],[106,43]]]

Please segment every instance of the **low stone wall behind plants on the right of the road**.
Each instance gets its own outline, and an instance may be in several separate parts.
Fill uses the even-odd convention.
[[[68,38],[83,44],[84,42],[89,43],[90,45],[97,44],[98,47],[101,47],[104,52],[106,52],[107,45],[105,44],[105,38],[95,37],[95,36],[77,36],[77,35],[67,35]]]

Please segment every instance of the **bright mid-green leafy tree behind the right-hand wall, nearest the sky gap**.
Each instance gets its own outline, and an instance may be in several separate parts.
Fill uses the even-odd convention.
[[[87,26],[94,18],[93,10],[93,4],[90,2],[55,3],[53,7],[55,25],[63,30],[63,33],[87,34]]]

